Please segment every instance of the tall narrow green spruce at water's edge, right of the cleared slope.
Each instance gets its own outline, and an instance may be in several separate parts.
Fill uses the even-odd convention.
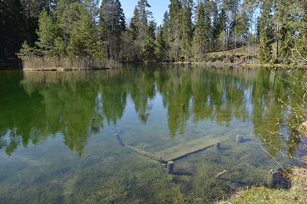
[[[259,22],[259,62],[261,64],[271,63],[272,43],[273,43],[273,28],[271,6],[268,3],[263,3],[261,6],[261,18]]]

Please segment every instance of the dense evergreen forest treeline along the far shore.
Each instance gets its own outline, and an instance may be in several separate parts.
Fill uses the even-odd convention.
[[[147,0],[128,20],[119,0],[6,0],[0,18],[3,61],[18,53],[20,59],[202,62],[210,60],[207,53],[244,47],[260,63],[307,64],[305,0],[170,0],[161,25]]]

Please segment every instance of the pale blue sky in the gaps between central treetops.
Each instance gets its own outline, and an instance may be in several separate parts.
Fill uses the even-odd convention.
[[[126,19],[129,20],[133,16],[135,6],[138,4],[138,0],[120,0],[122,8],[124,10]],[[149,11],[152,12],[153,19],[158,25],[162,24],[163,14],[168,10],[169,0],[148,0]]]

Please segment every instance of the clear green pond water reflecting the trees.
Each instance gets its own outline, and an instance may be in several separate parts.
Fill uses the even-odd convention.
[[[273,74],[276,73],[276,76]],[[151,66],[76,72],[0,71],[0,203],[210,203],[266,184],[278,165],[261,136],[301,90],[284,70]],[[181,104],[184,104],[184,108]],[[95,118],[91,129],[91,118]],[[283,126],[287,129],[287,126]],[[164,164],[164,160],[221,142]],[[237,144],[236,135],[245,141]],[[282,165],[293,161],[279,157]],[[228,172],[220,178],[214,176]]]

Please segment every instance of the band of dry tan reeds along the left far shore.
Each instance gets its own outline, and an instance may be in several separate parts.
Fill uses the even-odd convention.
[[[121,67],[121,63],[113,59],[98,58],[31,58],[23,60],[23,69],[28,71],[52,70],[94,70]]]

